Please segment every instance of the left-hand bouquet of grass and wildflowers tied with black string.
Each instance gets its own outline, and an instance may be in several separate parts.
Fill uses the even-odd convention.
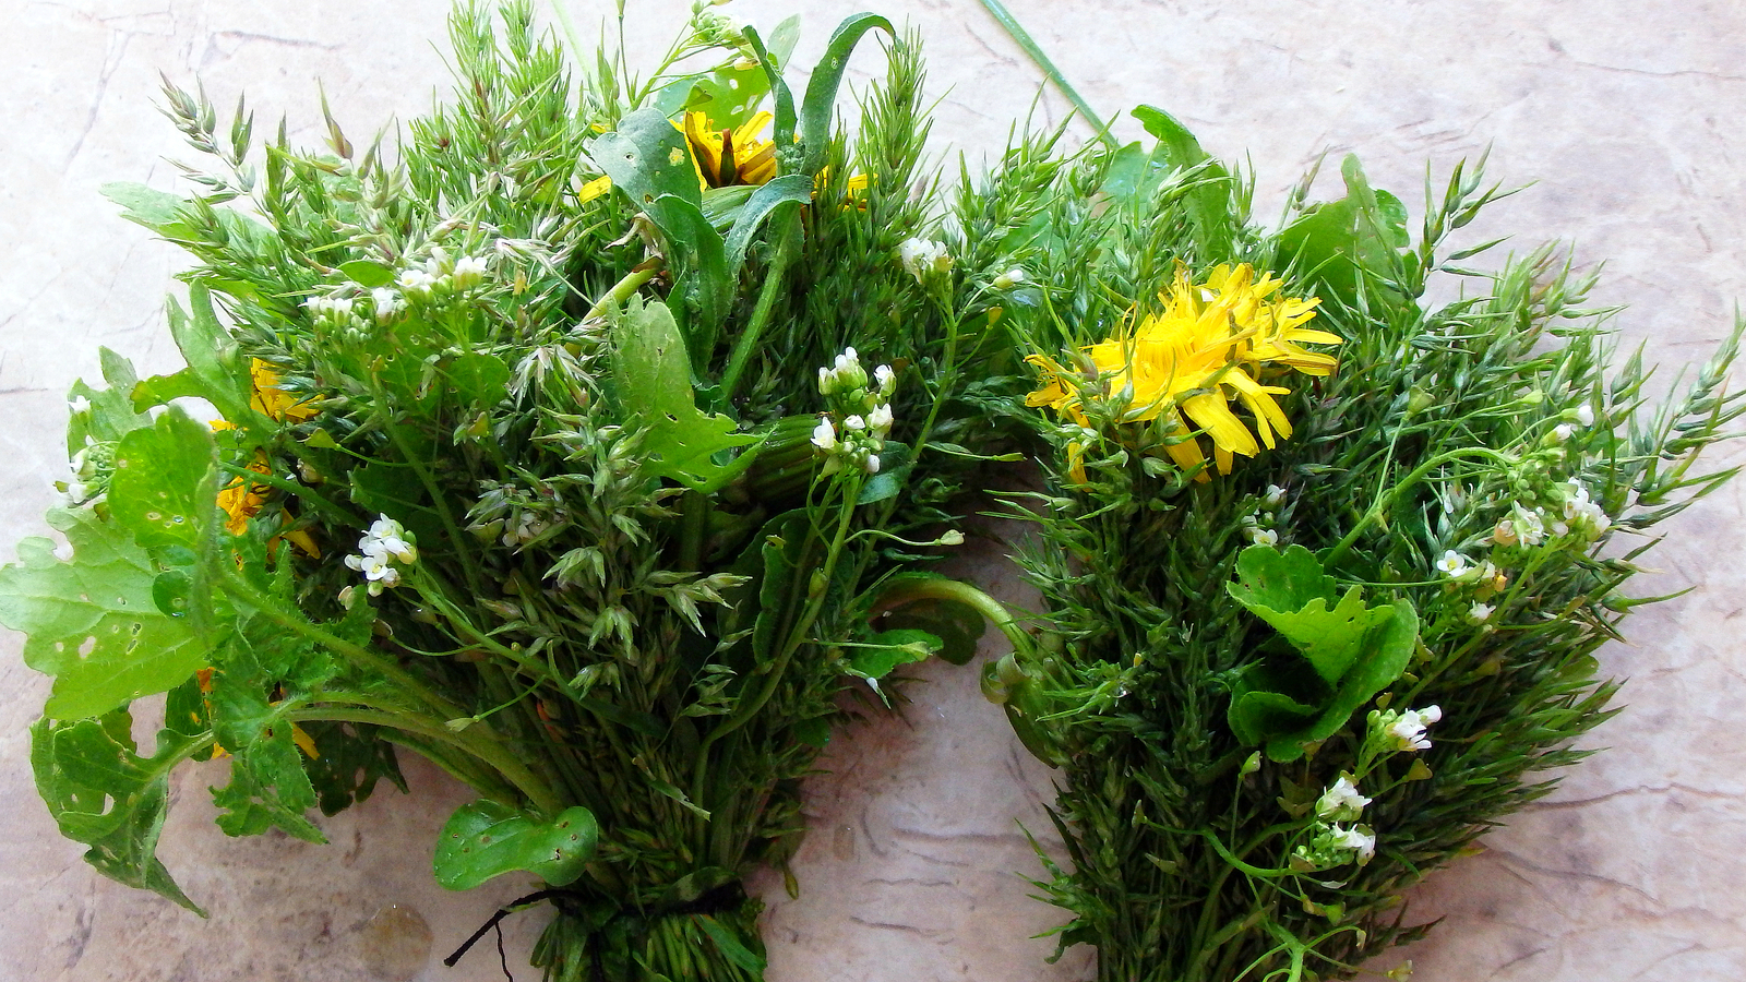
[[[740,881],[793,851],[838,695],[974,640],[899,571],[962,542],[990,320],[925,238],[915,40],[850,17],[796,98],[794,30],[700,3],[639,80],[527,2],[461,7],[454,98],[393,147],[332,117],[323,150],[257,145],[166,89],[194,194],[108,192],[194,255],[189,365],[105,351],[49,514],[72,554],[0,571],[91,863],[194,907],[155,854],[175,767],[230,758],[227,833],[321,840],[309,809],[403,788],[407,750],[478,793],[440,882],[543,881],[548,979],[761,975]]]

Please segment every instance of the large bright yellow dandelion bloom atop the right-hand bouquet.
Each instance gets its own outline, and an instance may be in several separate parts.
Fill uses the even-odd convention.
[[[1166,453],[1182,468],[1203,470],[1212,440],[1213,465],[1229,474],[1234,456],[1257,456],[1292,435],[1290,419],[1273,398],[1290,390],[1266,384],[1269,367],[1327,376],[1334,356],[1304,344],[1339,344],[1336,334],[1303,327],[1315,316],[1316,299],[1275,297],[1280,280],[1243,266],[1219,266],[1205,283],[1177,269],[1159,294],[1161,309],[1138,325],[1079,349],[1084,379],[1046,355],[1027,360],[1039,370],[1039,388],[1027,405],[1049,407],[1081,426],[1090,425],[1081,388],[1095,379],[1123,405],[1116,423],[1166,419],[1186,435]],[[1247,409],[1248,419],[1233,412]],[[1191,426],[1193,425],[1193,426]],[[1254,430],[1250,430],[1254,426]],[[1077,481],[1077,477],[1076,477]]]

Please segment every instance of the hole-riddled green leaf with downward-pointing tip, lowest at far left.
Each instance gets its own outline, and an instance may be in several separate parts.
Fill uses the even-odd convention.
[[[157,839],[169,807],[169,772],[189,757],[196,737],[159,730],[152,757],[140,757],[131,727],[126,709],[101,722],[37,720],[30,729],[37,793],[61,835],[89,846],[86,861],[98,872],[168,896],[204,917],[157,860]]]

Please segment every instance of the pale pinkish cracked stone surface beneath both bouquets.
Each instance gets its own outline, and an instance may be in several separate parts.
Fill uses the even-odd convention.
[[[681,3],[632,3],[632,37],[662,38]],[[1037,93],[1037,72],[973,0],[880,5],[922,30],[939,94],[936,135],[997,149]],[[1727,332],[1746,294],[1746,7],[1716,0],[1264,0],[1187,3],[1011,0],[1065,75],[1105,112],[1149,101],[1255,171],[1257,213],[1323,152],[1358,152],[1379,187],[1416,189],[1493,149],[1493,175],[1536,182],[1474,239],[1516,248],[1557,238],[1606,260],[1598,294],[1652,358],[1685,363]],[[609,17],[576,3],[583,35]],[[742,0],[770,26],[805,16],[798,63],[852,7]],[[430,105],[443,82],[442,3],[410,0],[12,0],[0,35],[0,543],[37,533],[65,467],[63,393],[96,374],[98,346],[145,370],[176,362],[162,294],[180,255],[98,196],[115,180],[173,187],[182,150],[154,112],[157,72],[201,82],[220,107],[248,93],[262,126],[320,140],[320,79],[360,138]],[[636,45],[634,45],[636,47]],[[864,80],[876,54],[857,58]],[[1044,93],[1039,122],[1063,117]],[[1131,121],[1123,135],[1137,135]],[[1084,135],[1079,128],[1076,133]],[[1325,187],[1325,183],[1323,183]],[[1722,461],[1739,461],[1739,453]],[[1425,982],[1746,977],[1746,655],[1734,620],[1746,571],[1746,484],[1669,526],[1643,592],[1690,589],[1629,622],[1601,657],[1629,678],[1626,713],[1545,802],[1486,839],[1486,853],[1413,895],[1444,917],[1409,956]],[[5,550],[9,554],[9,550]],[[997,568],[993,559],[986,563]],[[0,638],[0,979],[363,979],[360,931],[388,903],[463,938],[519,884],[447,895],[426,872],[435,830],[464,793],[409,767],[410,799],[379,793],[323,821],[332,846],[229,840],[194,769],[175,786],[171,870],[211,919],[96,877],[35,800],[26,727],[47,694]],[[808,788],[814,832],[794,865],[800,898],[768,879],[770,979],[945,980],[1090,977],[1090,952],[1046,966],[1035,935],[1060,921],[1028,900],[1037,874],[1020,825],[1042,832],[1048,771],[1025,757],[969,669],[927,666],[901,716],[840,732]],[[536,916],[510,923],[524,952]],[[419,979],[501,977],[475,954]],[[519,977],[529,979],[526,963]]]

